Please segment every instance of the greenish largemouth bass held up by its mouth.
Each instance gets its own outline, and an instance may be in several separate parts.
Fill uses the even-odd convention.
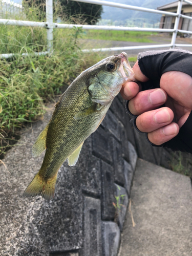
[[[23,193],[25,197],[53,199],[62,163],[68,159],[70,166],[76,164],[84,140],[97,130],[122,85],[133,80],[125,52],[104,58],[77,76],[32,146],[33,157],[46,153],[39,172]]]

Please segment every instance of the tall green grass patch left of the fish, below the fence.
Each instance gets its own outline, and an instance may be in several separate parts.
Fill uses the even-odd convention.
[[[27,29],[23,32],[29,35],[28,38],[31,36]],[[34,44],[30,48],[29,44],[32,45],[31,42],[16,45],[13,50],[12,41],[12,44],[3,44],[2,48],[7,48],[7,52],[32,53],[39,47]],[[43,101],[60,93],[60,88],[69,84],[81,72],[82,56],[74,46],[73,34],[68,40],[56,41],[54,45],[59,51],[55,51],[51,56],[22,57],[18,54],[14,59],[1,61],[0,129],[13,131],[15,127],[20,127],[22,122],[35,120],[43,112]],[[42,50],[46,48],[42,44],[41,47]]]

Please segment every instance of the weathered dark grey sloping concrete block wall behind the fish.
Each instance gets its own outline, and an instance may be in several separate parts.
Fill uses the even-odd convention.
[[[83,144],[74,167],[61,166],[52,201],[23,198],[26,186],[42,159],[31,156],[31,146],[49,121],[22,131],[20,145],[0,166],[0,255],[116,256],[120,244],[137,154],[167,167],[170,153],[147,143],[137,133],[117,96],[98,130]],[[136,154],[136,151],[137,154]],[[117,211],[115,196],[125,195]]]

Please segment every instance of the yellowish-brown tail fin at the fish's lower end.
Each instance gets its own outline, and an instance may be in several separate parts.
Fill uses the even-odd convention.
[[[36,197],[42,196],[47,200],[51,200],[55,195],[55,184],[57,180],[57,175],[50,179],[44,179],[39,176],[39,173],[35,175],[31,183],[28,185],[24,191],[24,197]]]

